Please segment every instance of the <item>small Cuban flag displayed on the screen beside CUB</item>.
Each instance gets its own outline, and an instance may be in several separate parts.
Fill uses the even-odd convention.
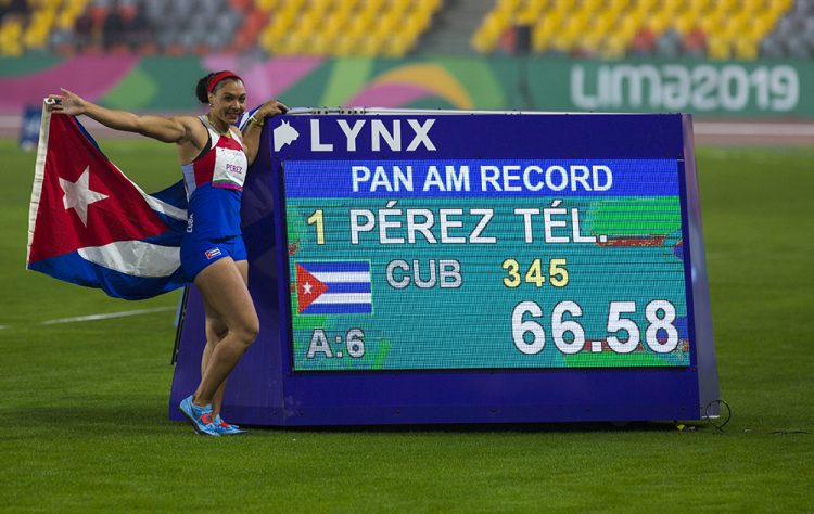
[[[301,314],[369,314],[370,262],[296,262],[296,310]]]

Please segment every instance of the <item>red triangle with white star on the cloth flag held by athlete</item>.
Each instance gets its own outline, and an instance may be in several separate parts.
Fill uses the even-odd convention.
[[[138,187],[85,136],[73,116],[48,117],[47,149],[37,164],[42,167],[41,183],[35,181],[31,197],[36,216],[29,262],[168,230]],[[79,187],[93,202],[77,209],[66,200],[65,188]]]

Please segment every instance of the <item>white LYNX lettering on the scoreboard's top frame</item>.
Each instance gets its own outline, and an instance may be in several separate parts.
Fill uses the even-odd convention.
[[[319,131],[320,121],[330,124],[334,120],[310,120],[310,150],[311,152],[333,152],[333,143],[322,142]],[[383,119],[372,119],[369,124],[367,119],[357,119],[353,126],[345,119],[335,120],[345,136],[345,149],[348,152],[356,152],[356,140],[363,132],[365,132],[365,139],[370,138],[370,150],[372,152],[381,152],[382,143],[393,152],[400,152],[404,146],[402,143],[402,121],[407,121],[405,130],[407,133],[405,136],[410,138],[409,144],[404,149],[405,152],[415,152],[419,146],[423,146],[430,152],[435,151],[435,145],[432,139],[430,139],[430,129],[435,124],[434,119],[425,119],[424,121],[417,119],[387,119],[386,121]]]

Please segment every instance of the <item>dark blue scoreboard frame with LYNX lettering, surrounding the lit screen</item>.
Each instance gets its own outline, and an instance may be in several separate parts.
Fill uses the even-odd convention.
[[[296,248],[288,240],[287,200],[293,200],[287,198],[285,167],[304,166],[315,183],[328,183],[322,191],[330,191],[330,163],[479,159],[674,163],[686,286],[682,332],[689,342],[681,365],[519,368],[496,361],[494,367],[430,362],[395,369],[303,368],[302,356],[294,355],[292,320],[303,299],[292,291]],[[717,414],[717,368],[689,115],[305,110],[267,124],[243,191],[242,216],[260,334],[229,378],[222,411],[230,421],[527,423],[699,420]],[[410,305],[402,308],[409,317]],[[491,316],[488,306],[482,314]],[[443,320],[415,318],[415,323]],[[171,419],[180,419],[175,406],[200,380],[205,336],[194,286],[179,335]]]

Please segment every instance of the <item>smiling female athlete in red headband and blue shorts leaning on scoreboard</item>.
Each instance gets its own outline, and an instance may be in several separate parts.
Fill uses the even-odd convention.
[[[246,170],[257,156],[265,119],[284,114],[288,107],[276,100],[266,102],[241,134],[234,124],[245,111],[246,89],[238,75],[209,74],[199,80],[195,94],[208,105],[199,117],[138,116],[96,105],[66,89],[50,98],[55,101],[53,111],[84,114],[115,130],[176,144],[189,203],[181,267],[200,290],[206,313],[201,383],[179,409],[199,434],[233,435],[245,431],[220,417],[226,378],[259,331],[246,286],[240,197]]]

